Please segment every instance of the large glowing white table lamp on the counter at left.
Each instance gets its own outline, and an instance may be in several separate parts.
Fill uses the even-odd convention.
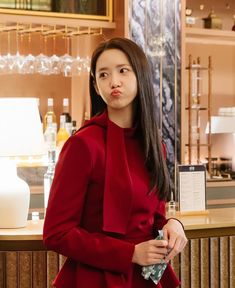
[[[30,189],[17,175],[16,156],[45,153],[36,98],[0,98],[0,228],[25,227]]]

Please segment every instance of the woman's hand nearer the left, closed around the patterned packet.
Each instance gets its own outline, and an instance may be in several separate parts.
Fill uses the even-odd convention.
[[[141,266],[161,263],[167,255],[168,241],[149,240],[135,245],[132,262]]]

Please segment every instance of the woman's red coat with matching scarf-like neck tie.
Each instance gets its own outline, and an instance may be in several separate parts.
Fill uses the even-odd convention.
[[[135,130],[118,127],[104,113],[69,138],[56,165],[43,231],[45,245],[68,257],[55,287],[156,287],[131,262],[135,244],[154,238],[166,223],[165,202],[148,192]],[[178,284],[168,265],[158,287]]]

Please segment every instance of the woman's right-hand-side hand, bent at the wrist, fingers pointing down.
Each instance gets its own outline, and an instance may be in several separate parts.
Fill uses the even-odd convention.
[[[163,237],[168,242],[168,254],[165,261],[169,262],[184,249],[188,240],[181,223],[176,219],[169,219],[162,230]]]

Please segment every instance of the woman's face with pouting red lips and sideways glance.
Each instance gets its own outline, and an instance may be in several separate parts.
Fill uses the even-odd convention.
[[[133,112],[137,79],[127,56],[119,49],[102,52],[96,63],[96,91],[110,112]]]

